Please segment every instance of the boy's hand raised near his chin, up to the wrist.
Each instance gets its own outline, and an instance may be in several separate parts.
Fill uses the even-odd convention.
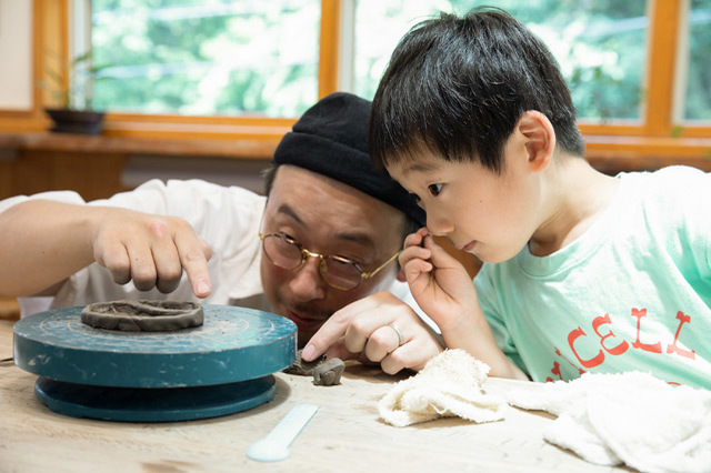
[[[412,296],[442,333],[478,305],[464,266],[437,244],[425,228],[405,238],[399,261]]]

